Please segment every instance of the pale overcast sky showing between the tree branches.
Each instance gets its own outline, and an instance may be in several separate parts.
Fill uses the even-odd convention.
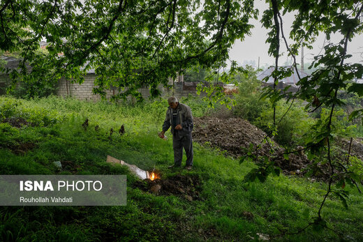
[[[269,45],[265,43],[267,38],[267,29],[262,27],[262,24],[259,22],[260,17],[262,16],[263,11],[267,8],[267,3],[265,1],[255,0],[255,7],[260,10],[259,20],[251,21],[255,27],[251,31],[251,36],[246,36],[243,40],[237,40],[235,45],[233,45],[230,50],[230,59],[237,61],[241,65],[245,65],[249,63],[250,65],[255,63],[255,66],[258,66],[258,57],[260,56],[260,67],[261,66],[272,66],[274,65],[274,57],[269,56],[267,54]],[[288,38],[290,35],[290,25],[294,20],[294,15],[285,15],[283,17],[283,32]],[[339,43],[339,41],[343,38],[341,35],[333,36],[331,41],[333,43]],[[316,43],[313,45],[313,50],[307,50],[304,48],[304,63],[311,63],[313,61],[314,54],[319,54],[322,50],[322,47],[327,44],[325,40],[325,35],[321,34],[318,36]],[[292,43],[291,40],[288,39],[288,44]],[[281,38],[280,40],[280,52],[286,53],[285,43]],[[301,51],[301,49],[300,49]],[[351,43],[348,43],[348,54],[353,54],[353,57],[348,59],[350,63],[363,63],[363,35],[356,36],[353,38]],[[321,52],[323,54],[323,51]],[[279,59],[279,65],[283,66],[286,61],[291,61],[290,58],[287,59],[287,54],[284,54]],[[297,62],[301,62],[301,56],[297,56]],[[304,66],[307,68],[307,66]]]

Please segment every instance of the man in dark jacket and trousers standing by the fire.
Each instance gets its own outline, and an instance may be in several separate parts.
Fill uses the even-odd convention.
[[[170,166],[170,168],[180,167],[182,165],[184,147],[186,153],[185,169],[191,170],[193,167],[193,143],[191,138],[193,116],[191,114],[191,108],[185,104],[179,103],[175,97],[168,98],[168,103],[169,108],[166,111],[163,130],[159,133],[159,137],[163,138],[165,132],[171,126],[174,165]]]

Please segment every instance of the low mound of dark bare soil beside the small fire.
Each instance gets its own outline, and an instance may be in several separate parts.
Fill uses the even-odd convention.
[[[200,199],[201,188],[198,176],[177,174],[168,179],[136,181],[133,186],[155,195],[177,195],[189,201]]]

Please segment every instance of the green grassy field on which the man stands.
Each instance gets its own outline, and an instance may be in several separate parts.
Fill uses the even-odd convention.
[[[184,100],[194,116],[209,110],[200,100]],[[126,206],[2,206],[0,241],[259,241],[295,233],[316,217],[327,185],[294,176],[271,176],[265,183],[244,183],[253,163],[223,156],[194,144],[194,169],[168,170],[172,140],[157,137],[167,102],[141,105],[86,103],[50,97],[18,100],[0,97],[1,174],[126,174]],[[11,120],[23,123],[11,126]],[[87,130],[82,128],[89,119]],[[124,124],[126,133],[117,132]],[[99,126],[99,130],[95,130]],[[115,133],[110,138],[110,129]],[[168,131],[166,134],[171,138]],[[113,156],[156,169],[162,178],[197,176],[200,199],[156,196],[135,188],[128,170],[105,162]],[[54,161],[69,161],[59,171]],[[184,161],[185,162],[185,156]],[[362,241],[363,197],[348,188],[348,209],[331,197],[323,208],[330,229],[308,227],[276,241]]]

